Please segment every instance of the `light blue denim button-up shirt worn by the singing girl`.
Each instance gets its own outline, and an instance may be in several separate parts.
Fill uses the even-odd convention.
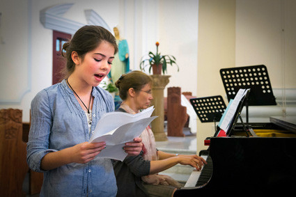
[[[104,113],[114,111],[113,97],[107,91],[94,87],[92,95],[91,131]],[[84,109],[65,80],[34,97],[26,160],[33,171],[44,173],[40,196],[116,196],[111,159],[97,156],[87,164],[71,163],[49,171],[40,168],[47,153],[88,141],[91,134]]]

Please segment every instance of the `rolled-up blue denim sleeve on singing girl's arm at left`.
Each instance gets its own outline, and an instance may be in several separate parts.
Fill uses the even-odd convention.
[[[52,111],[49,97],[45,90],[34,97],[31,102],[31,127],[26,146],[26,161],[33,171],[45,172],[40,168],[41,159],[49,152],[49,134],[52,127]]]

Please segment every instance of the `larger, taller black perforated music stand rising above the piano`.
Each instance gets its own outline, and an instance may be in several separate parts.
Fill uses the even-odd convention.
[[[220,70],[220,74],[228,102],[235,97],[240,88],[251,89],[245,100],[247,124],[249,123],[249,105],[276,105],[265,65],[224,68]]]

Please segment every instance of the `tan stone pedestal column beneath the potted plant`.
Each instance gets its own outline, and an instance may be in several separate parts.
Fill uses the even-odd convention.
[[[155,141],[167,141],[166,133],[164,132],[164,88],[169,84],[169,75],[153,74],[150,75],[153,79],[152,93],[155,110],[153,116],[158,116],[151,123],[151,129],[155,136]]]

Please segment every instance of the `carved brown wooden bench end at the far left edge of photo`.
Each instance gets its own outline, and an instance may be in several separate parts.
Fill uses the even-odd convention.
[[[29,167],[22,141],[22,110],[0,110],[0,194],[25,196],[22,184]]]

